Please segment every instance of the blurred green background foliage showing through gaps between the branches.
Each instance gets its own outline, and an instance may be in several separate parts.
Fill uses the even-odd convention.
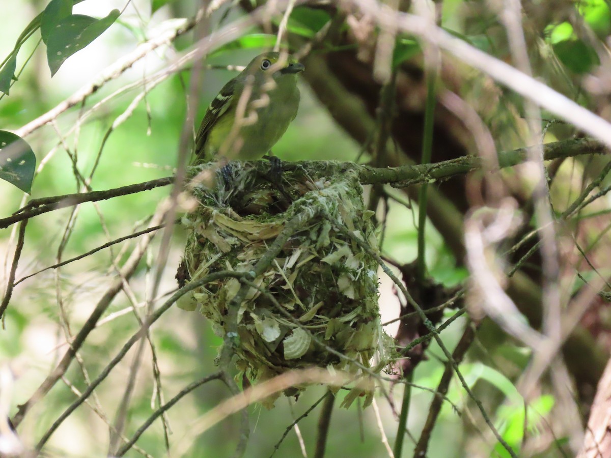
[[[2,5],[4,20],[0,27],[0,57],[9,55],[16,37],[45,6],[45,2],[40,0],[5,2]],[[0,129],[15,131],[31,122],[72,95],[79,87],[95,81],[104,68],[132,51],[139,43],[174,26],[177,18],[194,16],[198,7],[199,2],[193,0],[79,2],[74,6],[74,13],[102,18],[112,9],[119,9],[121,15],[116,23],[86,49],[69,57],[53,78],[47,67],[45,51],[38,42],[38,35],[27,40],[18,54],[16,68],[19,70],[26,61],[27,65],[11,88],[10,95],[2,96],[0,100]],[[441,24],[447,31],[486,53],[510,60],[505,29],[495,7],[499,7],[496,2],[487,1],[437,2]],[[536,76],[552,85],[558,92],[609,118],[611,113],[607,101],[593,89],[596,81],[604,79],[600,76],[601,72],[609,70],[607,62],[601,59],[601,56],[606,56],[606,40],[611,33],[609,4],[603,0],[525,2],[523,7],[525,39],[529,44]],[[238,7],[235,2],[223,4],[211,16],[209,26],[213,30],[218,29],[221,21],[224,24],[230,23],[246,15],[248,9]],[[296,8],[288,23],[288,31],[295,43],[313,38],[334,15],[331,10],[332,6],[319,9],[308,6]],[[349,27],[342,22],[338,29],[345,32]],[[372,26],[371,40],[374,29]],[[119,78],[113,79],[89,96],[82,106],[72,107],[53,123],[37,129],[26,138],[35,151],[39,167],[31,195],[25,197],[23,192],[9,183],[0,181],[0,217],[9,216],[16,211],[26,202],[26,198],[79,192],[73,167],[77,167],[82,175],[88,176],[102,146],[99,164],[90,182],[93,190],[111,189],[172,175],[177,167],[177,150],[185,128],[188,101],[197,103],[197,123],[222,85],[236,75],[235,71],[223,70],[220,67],[245,65],[262,49],[273,45],[275,38],[266,32],[271,32],[271,29],[252,27],[240,40],[215,50],[206,60],[206,64],[213,68],[205,71],[197,100],[189,100],[188,97],[190,69],[171,75],[147,92],[130,117],[112,131],[104,144],[104,135],[112,123],[128,109],[142,87],[114,96],[93,112],[85,122],[81,122],[82,114],[129,82],[137,82],[145,75],[165,68],[180,53],[192,46],[192,33],[148,53]],[[334,72],[334,78],[341,81],[352,96],[359,98],[360,103],[371,113],[375,112],[380,86],[371,78],[370,67],[357,59],[348,60],[353,54],[371,50],[367,47],[371,44],[367,43],[367,40],[368,37],[356,37],[345,42],[329,40],[318,46],[308,59],[310,62],[318,62],[312,58],[321,56],[326,59],[326,65]],[[416,161],[422,144],[425,111],[422,59],[422,49],[417,40],[408,35],[400,35],[394,48],[393,66],[401,68],[403,72],[397,87],[397,92],[402,94],[403,98],[397,97],[401,100],[401,114],[393,124],[393,129],[403,129],[405,139],[400,134],[396,135],[399,147],[403,148],[406,156]],[[370,60],[364,60],[370,63]],[[305,65],[308,68],[307,60]],[[441,73],[445,87],[461,92],[464,99],[475,107],[488,124],[497,149],[522,147],[527,143],[525,124],[521,117],[524,106],[519,96],[493,84],[486,76],[476,75],[455,59],[444,62]],[[600,78],[595,81],[594,77],[597,75]],[[340,114],[329,111],[329,104],[321,99],[320,90],[316,89],[316,83],[309,78],[306,70],[306,81],[300,85],[302,101],[299,114],[282,140],[274,147],[274,153],[287,161],[368,161],[371,151],[367,150],[365,154],[361,154],[363,148],[359,143],[362,141],[351,132],[349,126],[342,123]],[[411,91],[409,96],[405,95],[406,90]],[[373,94],[371,100],[365,93]],[[191,128],[192,126],[187,127]],[[464,130],[463,126],[457,124],[455,117],[444,111],[443,107],[439,107],[434,160],[472,153],[472,140]],[[571,134],[573,129],[570,126],[555,123],[546,130],[546,141],[563,139]],[[587,177],[594,175],[593,170],[597,170],[596,161],[598,159],[569,160],[558,170],[557,173],[564,177],[560,184],[558,181],[552,184],[552,202],[558,212],[562,212],[584,187]],[[525,183],[527,176],[518,176],[512,170],[507,171],[505,175],[508,181],[516,181],[516,189],[513,190],[518,195],[521,192],[526,195],[524,200],[527,201],[532,191],[529,183]],[[453,201],[456,208],[464,211],[469,208],[464,182],[455,180],[453,183],[456,181],[461,183],[459,191],[452,187],[442,187],[442,192],[445,192],[446,198]],[[452,186],[452,183],[448,186]],[[366,192],[370,190],[367,189]],[[169,187],[160,187],[101,201],[95,205],[81,205],[69,230],[70,237],[65,246],[62,238],[67,233],[70,208],[32,219],[27,225],[26,244],[17,278],[56,263],[58,256],[61,260],[78,256],[119,236],[140,230],[145,227],[158,203],[168,194]],[[389,190],[389,194],[395,195],[398,202],[392,198],[388,200],[388,211],[383,216],[382,252],[397,263],[411,263],[417,255],[417,206],[411,203],[408,208],[399,203],[407,202],[408,195],[394,190]],[[608,206],[607,201],[601,204],[599,210],[604,211]],[[426,225],[425,237],[428,272],[436,282],[444,286],[461,285],[467,278],[467,270],[459,255],[460,249],[456,249],[456,245],[461,244],[461,234],[448,236],[436,221],[432,223]],[[608,224],[594,219],[593,224],[588,227],[588,231],[592,233],[584,232],[580,236],[591,242],[607,228]],[[15,227],[0,232],[3,285],[7,282],[15,236]],[[159,239],[158,236],[150,245],[136,275],[130,280],[131,291],[141,305],[150,299],[147,295],[150,293],[152,269],[159,253]],[[65,335],[60,325],[60,314],[64,313],[68,317],[70,332],[75,333],[89,316],[101,294],[108,288],[110,278],[114,277],[112,260],[119,264],[125,261],[135,243],[134,239],[130,239],[61,269],[45,271],[16,286],[10,307],[5,314],[4,329],[0,333],[2,363],[10,364],[18,377],[11,413],[15,412],[16,405],[31,396],[65,351]],[[176,288],[175,267],[180,262],[184,244],[185,236],[178,227],[172,236],[169,262],[159,289],[163,297],[167,297],[167,294]],[[596,246],[599,244],[601,242],[598,240]],[[601,259],[605,255],[605,251],[597,254]],[[586,266],[577,267],[577,270],[579,269],[587,277],[587,271],[590,269]],[[574,272],[570,274],[573,275]],[[567,275],[567,278],[571,275]],[[380,305],[382,322],[396,318],[398,299],[392,283],[386,277],[381,278]],[[82,347],[80,355],[87,373],[92,377],[100,373],[112,355],[137,330],[137,322],[133,313],[128,310],[129,307],[130,301],[125,294],[119,294],[104,313],[103,324],[89,335]],[[453,313],[453,310],[447,311],[444,321]],[[106,320],[107,318],[112,319]],[[466,319],[460,318],[444,330],[442,337],[448,348],[452,349],[456,345],[466,322]],[[602,327],[604,332],[601,331],[597,336],[604,339],[609,325],[602,324]],[[394,335],[397,324],[389,325],[387,329]],[[155,324],[152,340],[156,347],[166,401],[192,381],[213,373],[214,358],[222,343],[202,316],[176,307],[171,308]],[[413,382],[434,389],[445,369],[444,355],[435,343],[431,344],[426,354],[426,360],[415,369]],[[128,354],[95,391],[97,398],[90,398],[111,420],[119,407],[131,357],[133,352]],[[530,401],[529,409],[525,413],[524,399],[514,386],[527,366],[529,357],[530,351],[527,347],[507,338],[496,325],[485,321],[469,355],[461,365],[461,371],[469,386],[476,390],[486,409],[492,412],[493,422],[502,437],[519,456],[561,456],[562,453],[567,453],[568,439],[563,434],[555,437],[551,433],[553,428],[549,427],[549,424],[557,423],[553,418],[556,401],[553,391],[541,388],[538,396]],[[150,349],[147,348],[141,373],[137,377],[136,390],[130,402],[126,428],[128,437],[157,407],[153,394],[155,386],[151,361]],[[600,368],[593,370],[598,371],[598,374],[601,371]],[[64,381],[57,383],[24,418],[18,431],[26,446],[33,446],[57,416],[76,398],[75,393],[68,387],[68,382],[79,391],[87,386],[76,363],[73,363],[65,374]],[[591,400],[591,393],[595,389],[591,380],[589,387]],[[400,409],[402,392],[403,385],[396,385],[390,391],[393,409]],[[581,392],[584,393],[583,390]],[[274,445],[280,440],[285,429],[322,394],[322,387],[310,387],[297,402],[282,398],[276,402],[276,408],[273,410],[251,405],[251,438],[246,456],[261,457],[273,453]],[[340,391],[338,397],[342,398],[344,395],[345,393]],[[167,416],[172,432],[169,438],[172,456],[232,455],[240,431],[235,416],[227,418],[204,434],[197,432],[200,416],[227,396],[229,393],[221,382],[211,382],[189,394],[169,410]],[[414,446],[411,438],[417,438],[422,429],[432,398],[433,394],[429,391],[412,389],[408,420],[410,435],[406,439],[406,456]],[[444,402],[441,416],[433,431],[428,456],[451,458],[486,456],[488,453],[491,456],[508,456],[507,451],[496,443],[486,430],[480,418],[472,416],[472,412],[475,412],[474,405],[466,398],[464,390],[456,380],[450,384],[447,398],[458,410]],[[582,397],[580,402],[586,402],[586,399],[587,396]],[[581,407],[584,405],[580,404]],[[395,415],[390,403],[382,395],[378,396],[378,406],[382,424],[392,444],[396,435]],[[587,410],[587,405],[585,407]],[[316,437],[317,412],[318,410],[313,411],[299,423],[305,448],[310,453]],[[386,453],[371,408],[362,410],[359,403],[356,403],[348,410],[335,409],[331,421],[328,456],[345,454],[373,457],[384,456]],[[526,440],[526,436],[529,440]],[[161,423],[156,421],[142,435],[137,445],[151,456],[163,455],[166,447]],[[107,448],[108,425],[90,407],[82,406],[53,435],[45,448],[45,456],[103,456]],[[139,454],[134,449],[128,452],[128,456]],[[294,432],[290,432],[282,442],[277,456],[301,456],[298,438]]]

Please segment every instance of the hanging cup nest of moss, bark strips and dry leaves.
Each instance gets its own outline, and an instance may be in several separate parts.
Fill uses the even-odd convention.
[[[262,261],[264,269],[252,280],[258,288],[249,289],[237,311],[238,369],[253,382],[310,366],[355,379],[362,367],[379,373],[395,353],[379,320],[378,265],[347,234],[376,247],[373,212],[364,209],[353,171],[313,181],[313,170],[290,165],[281,180],[269,180],[265,161],[232,162],[224,170],[229,180],[193,187],[197,208],[183,217],[188,236],[178,282],[222,270],[254,272],[292,222],[290,237],[276,256],[268,255],[269,262]],[[211,167],[192,167],[191,178],[214,173]],[[220,278],[187,293],[178,305],[199,308],[225,336],[228,307],[241,286],[236,278]],[[371,394],[356,394],[362,391]]]

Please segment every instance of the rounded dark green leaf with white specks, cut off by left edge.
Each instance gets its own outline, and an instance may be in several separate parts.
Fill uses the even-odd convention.
[[[0,179],[29,194],[35,167],[36,156],[26,140],[13,133],[0,131]]]

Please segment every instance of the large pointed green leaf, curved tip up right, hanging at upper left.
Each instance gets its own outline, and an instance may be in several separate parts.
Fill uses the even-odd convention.
[[[51,76],[57,73],[68,57],[103,34],[119,15],[119,10],[112,10],[108,16],[99,20],[74,14],[60,21],[51,31],[46,43],[46,59]]]

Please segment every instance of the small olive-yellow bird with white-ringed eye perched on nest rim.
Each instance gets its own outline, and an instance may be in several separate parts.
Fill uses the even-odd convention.
[[[297,115],[297,74],[304,70],[286,53],[252,59],[208,107],[196,136],[195,161],[252,161],[268,153]]]

